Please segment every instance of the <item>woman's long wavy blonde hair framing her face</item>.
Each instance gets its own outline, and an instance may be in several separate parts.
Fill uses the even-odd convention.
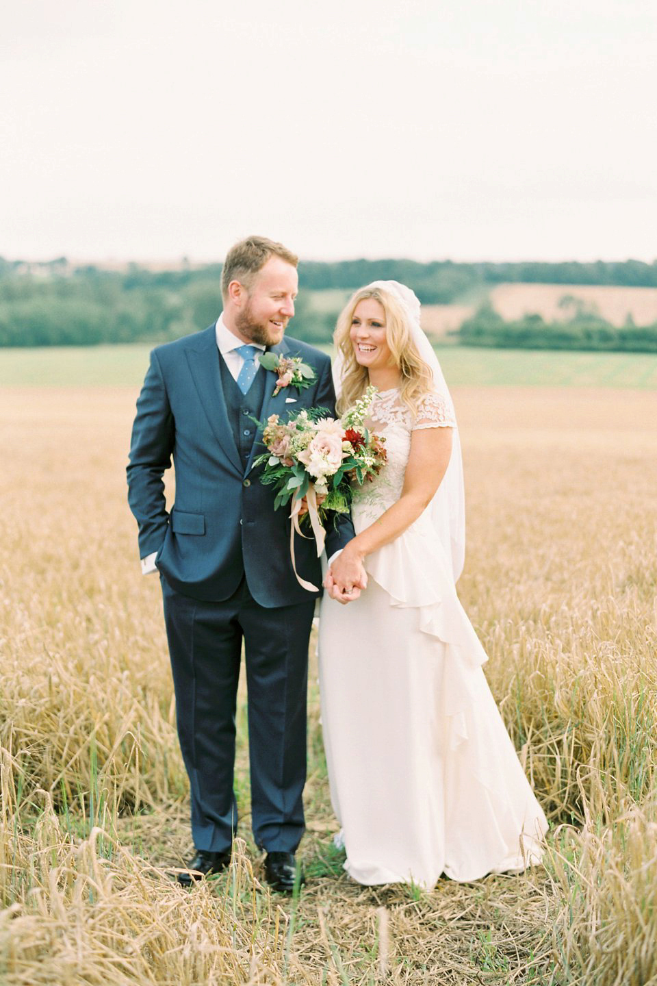
[[[385,340],[391,353],[391,366],[399,367],[401,382],[400,395],[414,415],[422,398],[433,389],[433,374],[422,359],[413,341],[408,313],[399,299],[383,288],[360,288],[347,302],[338,316],[333,341],[342,353],[343,378],[342,393],[337,409],[343,414],[362,396],[369,384],[365,367],[356,359],[350,337],[352,318],[356,306],[365,298],[380,302],[385,312]]]

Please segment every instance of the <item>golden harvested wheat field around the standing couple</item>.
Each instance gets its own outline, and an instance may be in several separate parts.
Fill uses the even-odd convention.
[[[552,829],[545,868],[363,888],[342,872],[309,694],[307,885],[248,825],[245,696],[226,876],[190,849],[160,590],[124,466],[136,390],[0,394],[0,981],[657,983],[657,394],[460,387],[460,595]],[[314,661],[314,658],[312,659]]]

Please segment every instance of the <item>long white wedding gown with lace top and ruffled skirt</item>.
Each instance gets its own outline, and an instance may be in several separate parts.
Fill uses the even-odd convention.
[[[416,424],[399,391],[368,424],[388,461],[355,491],[356,532],[401,494],[415,428],[454,424],[439,394]],[[319,621],[322,729],[333,809],[361,883],[441,874],[478,880],[542,856],[548,828],[482,670],[486,653],[459,602],[429,510],[364,562],[367,589]]]

